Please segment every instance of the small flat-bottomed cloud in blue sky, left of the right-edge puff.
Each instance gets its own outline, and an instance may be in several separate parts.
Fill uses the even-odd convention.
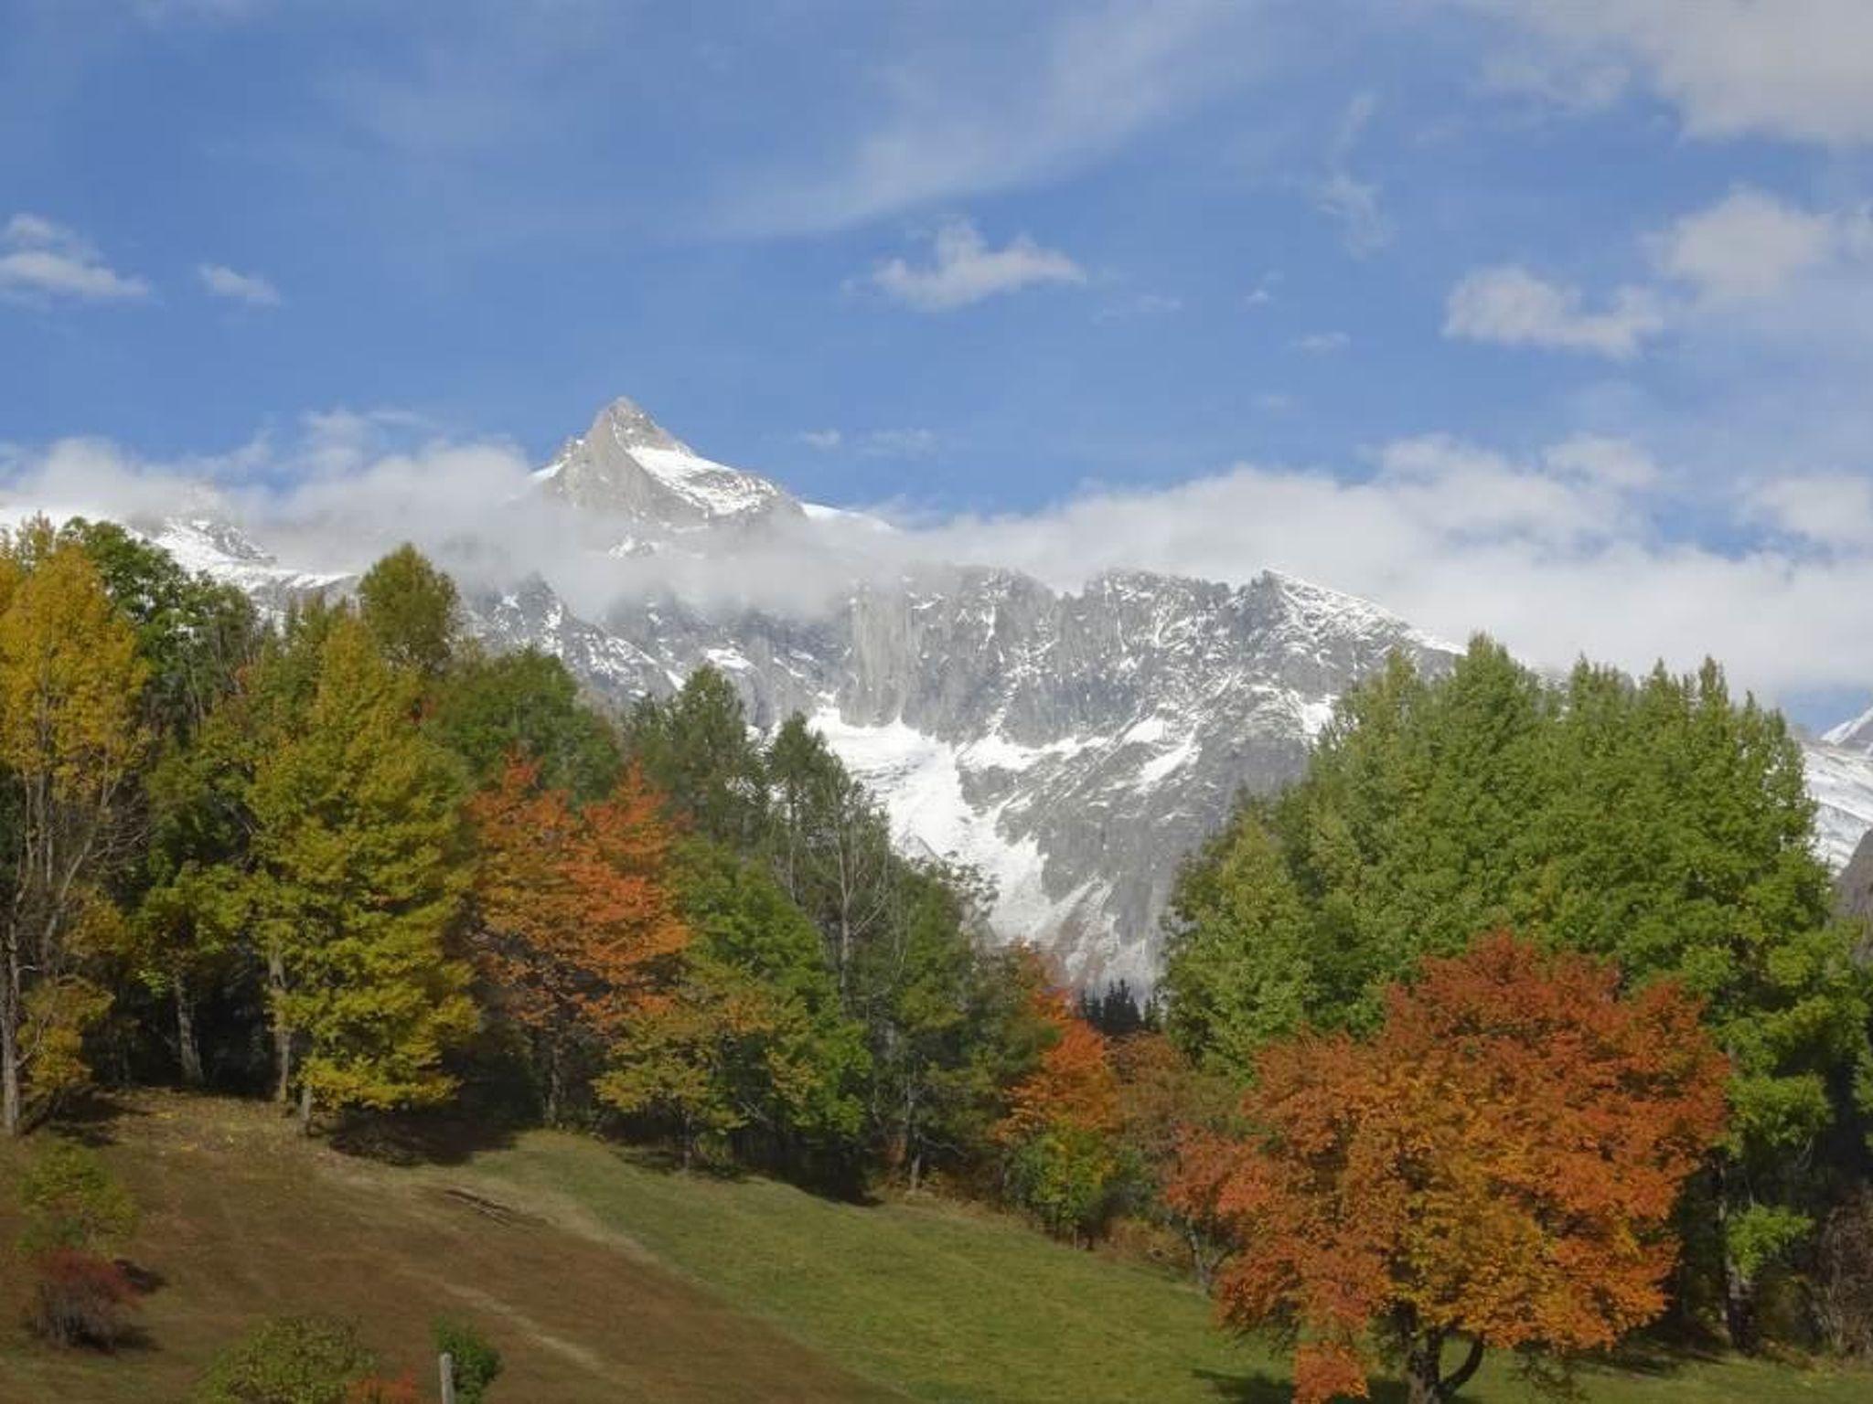
[[[1444,335],[1502,346],[1549,346],[1624,361],[1665,329],[1665,307],[1648,288],[1618,288],[1588,311],[1579,288],[1536,277],[1519,264],[1482,268],[1450,290]]]

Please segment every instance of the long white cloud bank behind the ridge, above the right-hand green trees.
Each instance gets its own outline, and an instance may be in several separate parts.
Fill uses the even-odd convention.
[[[1489,631],[1545,666],[1586,655],[1630,670],[1658,659],[1695,668],[1708,653],[1770,698],[1866,687],[1873,535],[1852,550],[1764,539],[1751,530],[1759,496],[1712,494],[1701,475],[1663,474],[1620,440],[1515,459],[1427,436],[1382,447],[1360,481],[1240,464],[1171,489],[950,522],[922,545],[1058,586],[1109,567],[1232,582],[1272,567],[1446,638]],[[1693,507],[1723,519],[1712,539],[1736,545],[1659,528]]]

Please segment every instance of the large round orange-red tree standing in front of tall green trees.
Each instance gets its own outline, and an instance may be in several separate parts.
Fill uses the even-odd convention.
[[[1302,1404],[1364,1398],[1373,1342],[1440,1404],[1485,1348],[1564,1361],[1650,1322],[1680,1185],[1723,1131],[1697,1016],[1497,934],[1392,987],[1367,1041],[1270,1045],[1249,1134],[1193,1142],[1172,1187],[1240,1245],[1223,1318],[1292,1333]]]

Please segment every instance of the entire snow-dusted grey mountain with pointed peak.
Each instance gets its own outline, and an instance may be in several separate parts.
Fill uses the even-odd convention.
[[[618,704],[667,695],[706,663],[757,726],[805,713],[880,796],[899,842],[981,869],[996,930],[1040,943],[1081,985],[1154,979],[1178,859],[1242,788],[1300,773],[1352,681],[1392,650],[1433,668],[1455,651],[1276,573],[1236,588],[1124,571],[1058,592],[1017,571],[893,556],[847,578],[852,534],[888,541],[888,524],[704,459],[629,401],[605,406],[523,496],[502,511],[549,509],[571,539],[532,575],[470,584],[476,633],[553,651]],[[270,610],[350,578],[296,571],[195,507],[127,524]],[[487,545],[444,558],[504,560]],[[729,605],[654,584],[663,563],[719,580],[753,578],[757,560],[766,580],[781,562],[843,584],[787,608],[749,607],[759,590]],[[594,578],[616,584],[594,592]],[[609,603],[579,612],[568,595]],[[1873,827],[1873,713],[1828,732],[1807,764],[1837,869]]]

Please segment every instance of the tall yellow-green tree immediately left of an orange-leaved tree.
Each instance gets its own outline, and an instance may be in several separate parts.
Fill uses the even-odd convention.
[[[249,900],[307,1127],[315,1104],[446,1097],[442,1054],[478,1024],[448,949],[468,880],[461,773],[416,728],[416,687],[339,618],[305,715],[255,768]]]

